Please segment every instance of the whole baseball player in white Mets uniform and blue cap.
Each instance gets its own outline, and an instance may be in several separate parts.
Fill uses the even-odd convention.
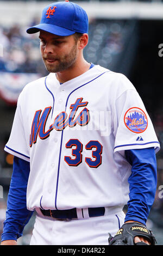
[[[79,5],[48,5],[27,29],[37,32],[49,75],[17,101],[1,245],[17,244],[34,211],[30,245],[155,245],[146,221],[160,144],[139,94],[126,76],[86,62]]]

